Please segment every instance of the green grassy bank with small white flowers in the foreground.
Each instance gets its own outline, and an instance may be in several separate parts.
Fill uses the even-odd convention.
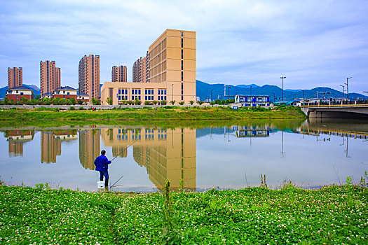
[[[0,244],[367,244],[368,189],[116,194],[0,186]]]

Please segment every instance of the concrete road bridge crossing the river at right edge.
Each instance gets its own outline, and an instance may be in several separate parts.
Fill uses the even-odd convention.
[[[368,118],[368,104],[300,106],[309,118]]]

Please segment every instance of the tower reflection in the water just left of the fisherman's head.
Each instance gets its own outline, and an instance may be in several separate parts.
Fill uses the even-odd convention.
[[[79,160],[85,169],[93,170],[93,161],[100,155],[100,130],[79,131]]]

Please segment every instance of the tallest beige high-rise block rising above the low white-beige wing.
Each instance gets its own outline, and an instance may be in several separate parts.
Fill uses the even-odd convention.
[[[196,96],[196,32],[167,29],[149,46],[149,82],[168,83],[171,100]]]

